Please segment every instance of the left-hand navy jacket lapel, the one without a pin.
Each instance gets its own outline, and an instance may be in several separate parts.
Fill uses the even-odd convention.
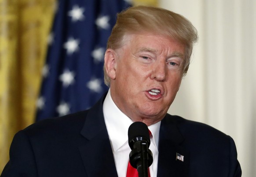
[[[79,149],[88,177],[117,177],[113,152],[103,118],[102,105],[105,96],[88,111],[81,131],[81,135],[86,138],[86,144]]]

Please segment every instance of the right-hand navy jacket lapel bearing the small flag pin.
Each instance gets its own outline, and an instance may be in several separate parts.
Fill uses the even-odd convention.
[[[183,136],[180,134],[176,122],[170,115],[161,121],[158,145],[158,177],[187,177],[189,167],[189,153],[180,144]],[[183,161],[178,156],[182,158]]]

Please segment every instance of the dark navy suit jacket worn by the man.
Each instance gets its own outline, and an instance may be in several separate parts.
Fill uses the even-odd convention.
[[[104,99],[90,110],[19,131],[1,177],[117,177]],[[233,139],[205,124],[167,114],[158,151],[157,177],[241,177]]]

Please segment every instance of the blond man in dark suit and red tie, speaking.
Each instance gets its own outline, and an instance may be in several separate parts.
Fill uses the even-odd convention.
[[[151,177],[241,177],[232,138],[167,113],[196,41],[190,21],[171,11],[120,13],[105,53],[109,92],[89,110],[19,131],[1,177],[129,176],[127,131],[136,121],[152,133]]]

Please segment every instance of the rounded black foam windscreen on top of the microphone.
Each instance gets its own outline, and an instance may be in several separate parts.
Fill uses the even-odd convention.
[[[150,144],[150,135],[146,124],[143,122],[134,122],[130,125],[128,129],[128,144],[131,148],[134,138],[142,138]]]

